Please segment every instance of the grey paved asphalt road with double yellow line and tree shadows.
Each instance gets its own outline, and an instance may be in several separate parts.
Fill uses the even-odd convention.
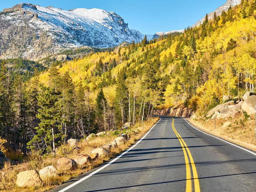
[[[254,154],[194,129],[183,118],[161,118],[139,144],[115,162],[52,192],[256,191]],[[74,186],[67,188],[70,185]]]

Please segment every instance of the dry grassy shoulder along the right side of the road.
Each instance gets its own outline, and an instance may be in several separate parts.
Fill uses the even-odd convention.
[[[204,132],[256,151],[255,119],[248,119],[243,114],[228,120],[216,119],[216,129],[214,119],[196,118],[188,121]],[[223,126],[227,121],[230,124]]]

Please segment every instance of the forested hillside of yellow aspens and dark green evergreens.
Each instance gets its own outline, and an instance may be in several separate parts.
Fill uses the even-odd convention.
[[[117,129],[178,104],[199,115],[223,95],[255,92],[256,1],[174,33],[89,54],[22,84],[2,62],[1,137],[13,149],[47,154],[71,137]],[[39,83],[40,82],[42,83]]]

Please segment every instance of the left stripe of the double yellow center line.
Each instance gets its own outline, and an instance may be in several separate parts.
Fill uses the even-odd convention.
[[[172,120],[172,129],[174,131],[174,121]],[[174,131],[175,133],[175,131]],[[175,133],[176,134],[176,133]],[[180,138],[178,137],[178,135],[176,134],[177,138],[180,141],[180,145],[182,147],[183,153],[184,153],[184,157],[185,157],[185,164],[186,164],[186,192],[191,192],[192,191],[192,186],[191,186],[191,173],[190,173],[190,165],[189,165],[189,161],[188,161],[188,155],[187,155],[187,151],[185,149],[185,146],[183,145],[182,141],[180,140]]]

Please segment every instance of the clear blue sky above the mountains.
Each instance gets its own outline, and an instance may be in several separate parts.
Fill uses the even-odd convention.
[[[129,28],[143,34],[184,29],[192,26],[206,13],[214,11],[227,0],[0,0],[0,10],[19,3],[53,6],[65,10],[99,8],[119,14]]]

